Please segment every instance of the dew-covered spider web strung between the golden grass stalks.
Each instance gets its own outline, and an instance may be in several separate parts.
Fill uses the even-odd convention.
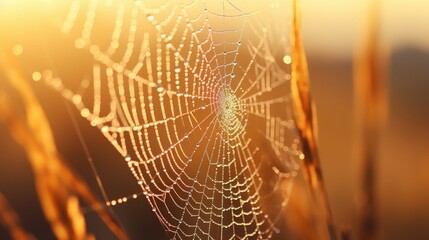
[[[254,2],[72,0],[60,24],[92,76],[45,81],[123,156],[172,239],[279,231],[302,157],[290,4]]]

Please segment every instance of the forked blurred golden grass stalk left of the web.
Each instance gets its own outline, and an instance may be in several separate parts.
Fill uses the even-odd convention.
[[[119,237],[127,236],[89,187],[65,165],[59,157],[53,135],[44,112],[12,57],[0,53],[0,67],[9,83],[22,98],[26,122],[12,110],[8,95],[0,91],[0,120],[9,127],[12,136],[26,150],[34,175],[36,191],[46,219],[58,239],[92,239],[86,233],[85,219],[80,212],[76,193],[95,210],[107,226]]]

